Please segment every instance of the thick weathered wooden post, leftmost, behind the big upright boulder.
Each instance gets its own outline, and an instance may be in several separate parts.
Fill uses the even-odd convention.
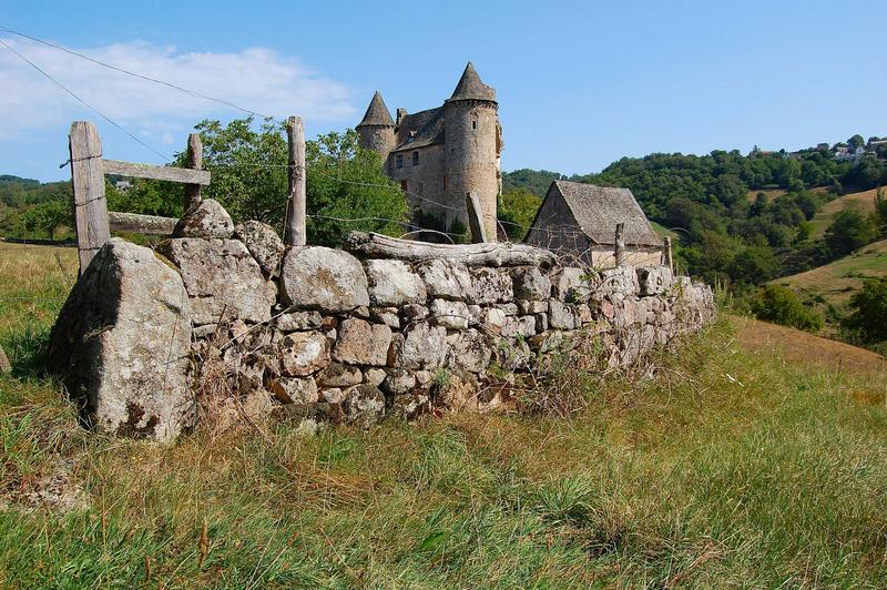
[[[74,193],[74,225],[80,274],[89,266],[99,248],[108,242],[108,203],[104,199],[102,140],[89,121],[71,123],[68,135],[71,152],[71,185]]]

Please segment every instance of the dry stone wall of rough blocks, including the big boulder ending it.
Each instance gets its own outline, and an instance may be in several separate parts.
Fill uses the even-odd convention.
[[[477,397],[490,375],[530,370],[570,338],[597,337],[609,365],[626,365],[714,314],[707,286],[662,266],[358,260],[284,248],[212,201],[188,216],[165,260],[111,240],[53,330],[52,366],[104,430],[170,440],[212,388],[232,416],[357,425],[472,396],[493,405]],[[441,383],[462,393],[435,398]]]

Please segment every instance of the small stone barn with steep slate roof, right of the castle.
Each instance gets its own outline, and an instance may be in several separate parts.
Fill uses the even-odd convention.
[[[662,238],[628,189],[554,181],[523,241],[572,254],[595,268],[612,267],[618,223],[624,224],[626,262],[661,264]]]

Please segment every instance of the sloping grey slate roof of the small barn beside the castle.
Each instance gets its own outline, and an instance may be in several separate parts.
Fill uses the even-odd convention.
[[[628,189],[554,181],[546,200],[557,197],[555,193],[563,197],[582,232],[597,244],[613,244],[616,224],[624,223],[625,245],[662,245],[662,238],[650,225],[641,205]],[[533,221],[533,226],[537,221],[538,218]]]

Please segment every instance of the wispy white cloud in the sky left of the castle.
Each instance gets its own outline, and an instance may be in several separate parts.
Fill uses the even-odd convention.
[[[246,116],[34,41],[3,41],[132,133],[157,143],[167,143],[173,133],[204,118]],[[357,114],[351,89],[271,49],[180,53],[141,41],[70,49],[278,119],[296,114],[306,121],[351,121]],[[96,115],[0,45],[0,140],[83,118]]]

